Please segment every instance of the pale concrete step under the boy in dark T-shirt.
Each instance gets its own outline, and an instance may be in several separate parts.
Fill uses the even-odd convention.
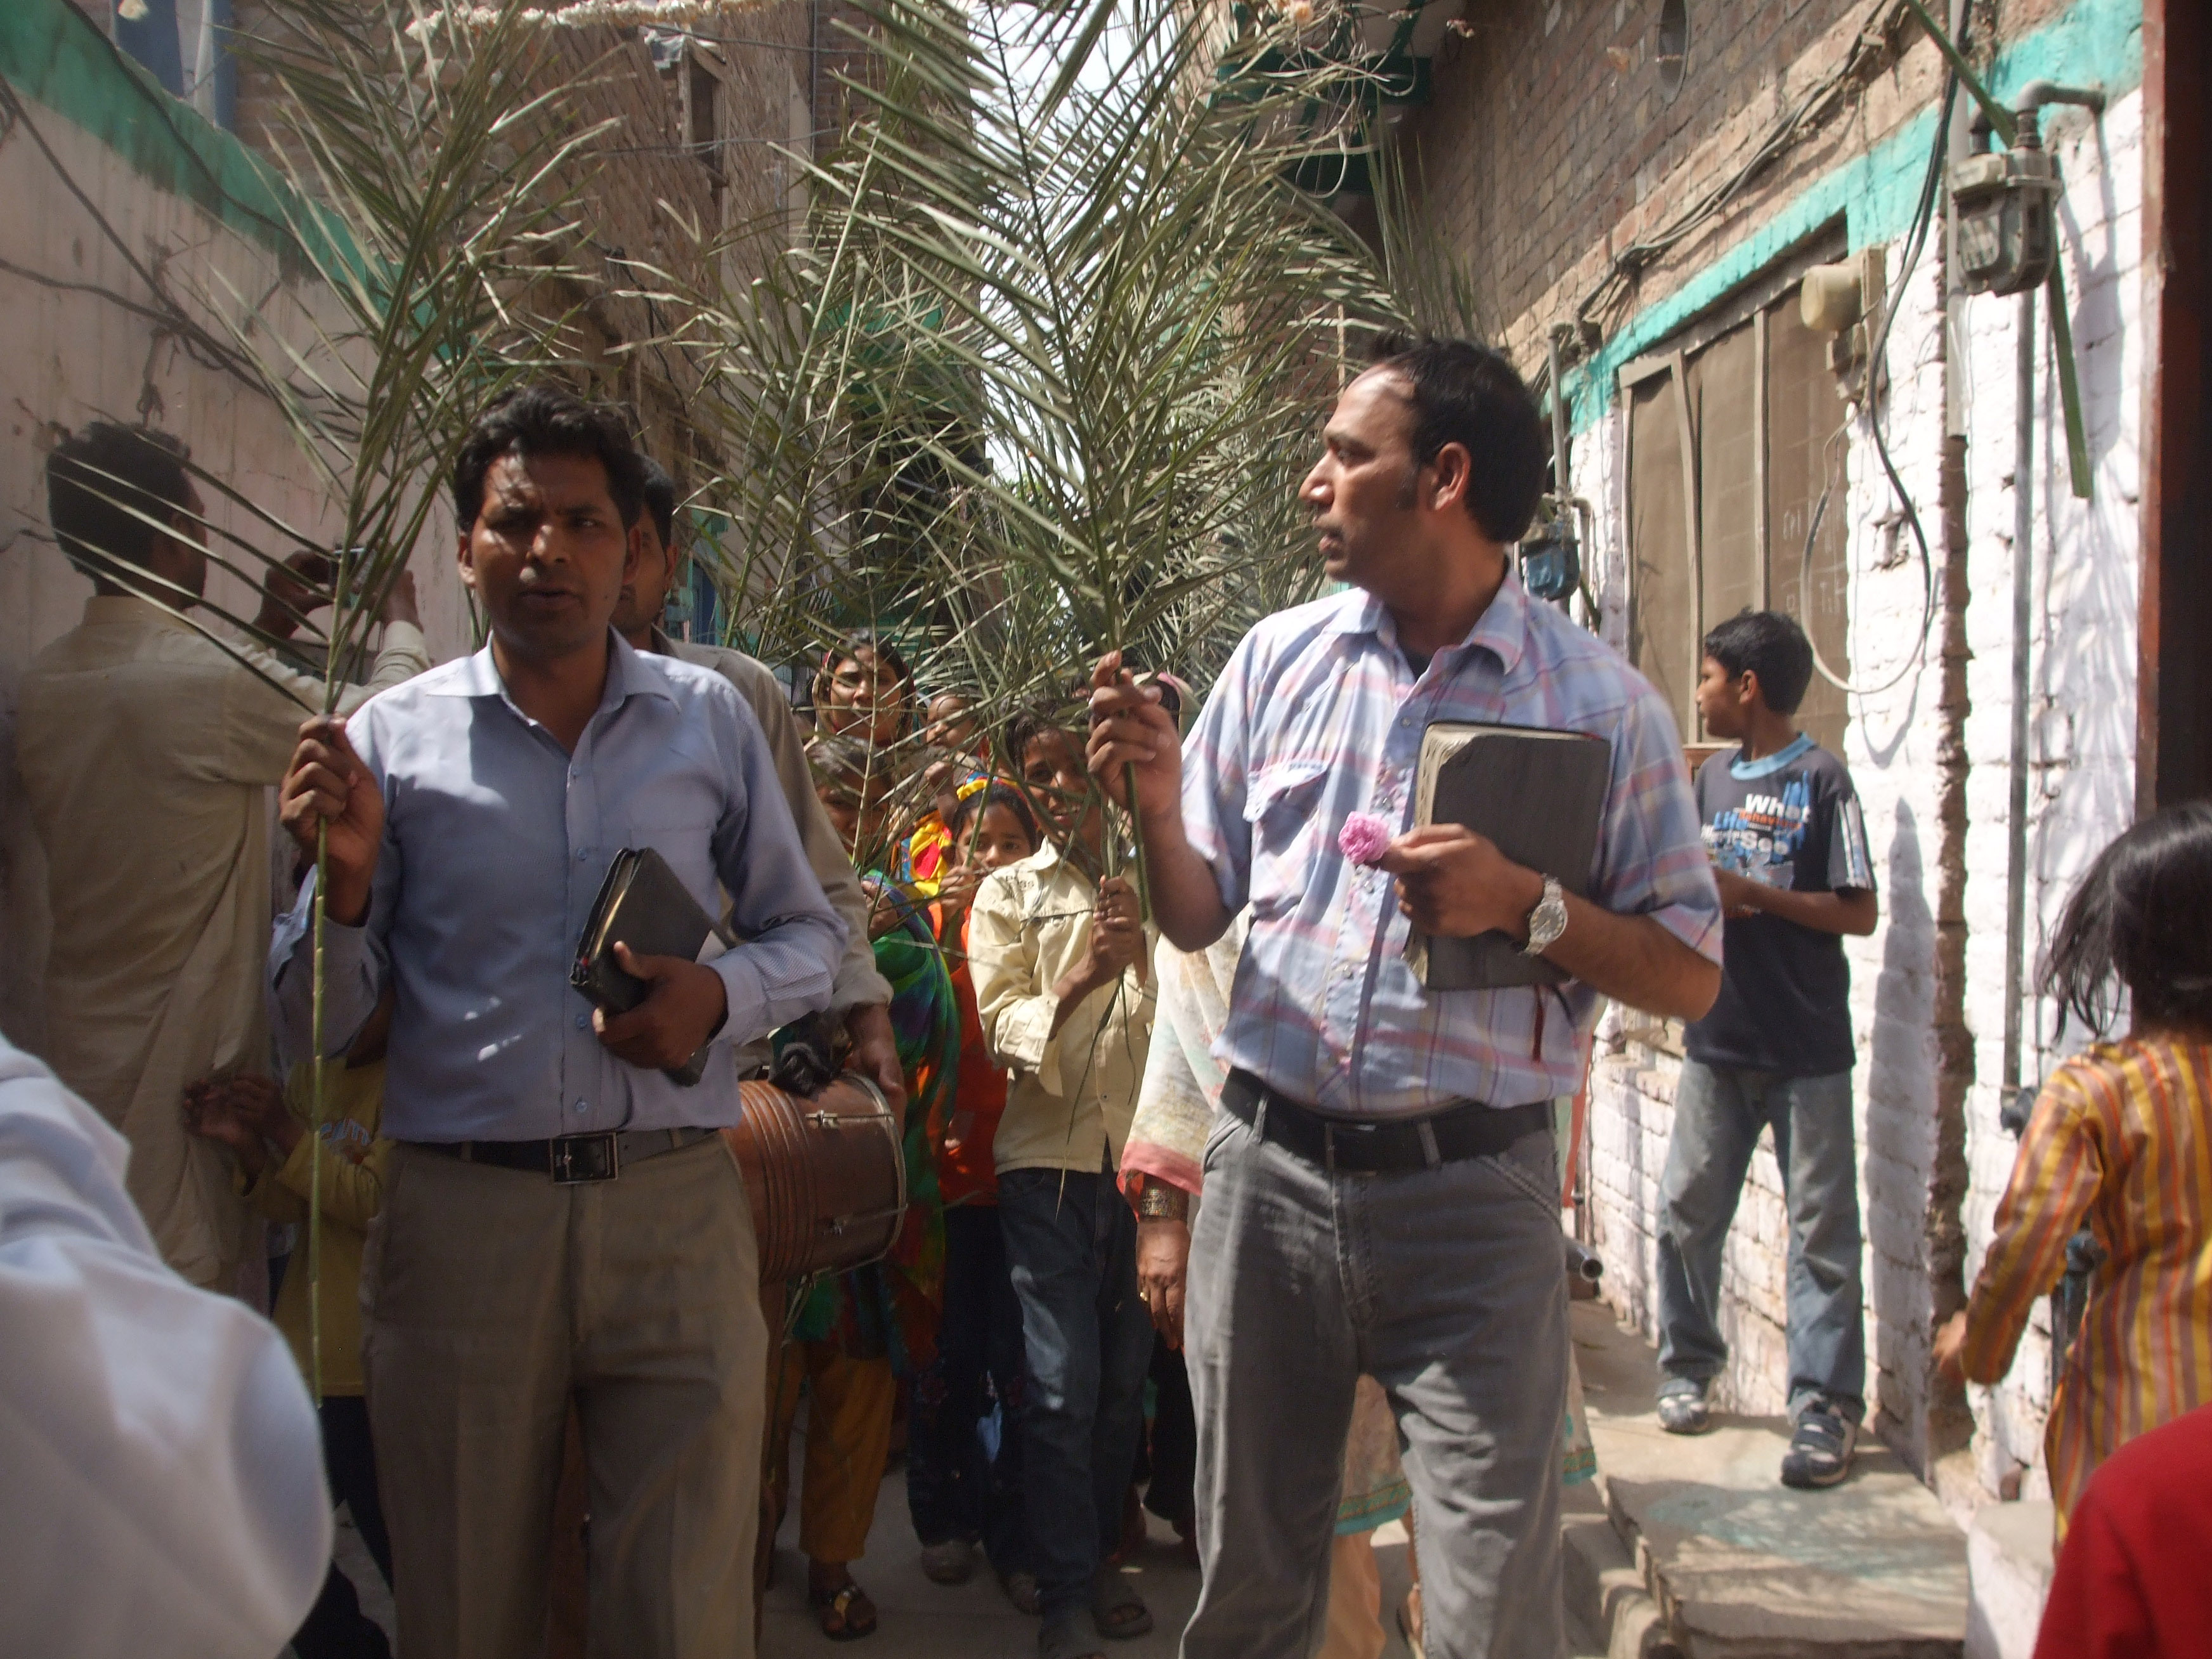
[[[1792,1491],[1778,1480],[1781,1420],[1723,1416],[1705,1436],[1663,1433],[1652,1352],[1601,1303],[1575,1307],[1575,1358],[1619,1555],[1571,1517],[1571,1586],[1582,1582],[1571,1604],[1608,1659],[1962,1652],[1966,1540],[1887,1447],[1863,1442],[1840,1486]],[[1608,1606],[1604,1624],[1590,1617]]]

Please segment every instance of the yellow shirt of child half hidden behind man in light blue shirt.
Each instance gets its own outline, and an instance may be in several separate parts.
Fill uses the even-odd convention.
[[[314,1073],[294,1066],[285,1082],[292,1115],[314,1121]],[[376,1130],[385,1108],[385,1062],[323,1073],[323,1394],[361,1394],[361,1243],[385,1201],[392,1141]],[[279,1225],[299,1228],[292,1261],[276,1292],[276,1329],[292,1345],[299,1374],[314,1376],[307,1354],[307,1192],[314,1137],[270,1164],[246,1188],[252,1206]]]

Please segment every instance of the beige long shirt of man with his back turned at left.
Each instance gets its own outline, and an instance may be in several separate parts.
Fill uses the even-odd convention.
[[[93,597],[22,679],[15,765],[46,847],[46,1053],[131,1141],[131,1199],[161,1259],[230,1287],[246,1210],[230,1155],[184,1128],[184,1086],[268,1068],[270,799],[323,686],[285,697],[190,624]],[[341,712],[429,668],[385,628]]]

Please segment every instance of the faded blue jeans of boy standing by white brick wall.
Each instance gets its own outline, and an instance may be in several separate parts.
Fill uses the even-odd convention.
[[[1721,1252],[1763,1124],[1790,1206],[1790,1416],[1827,1398],[1856,1420],[1867,1409],[1867,1321],[1847,1071],[1783,1077],[1681,1064],[1659,1183],[1659,1389],[1710,1383],[1728,1363]]]

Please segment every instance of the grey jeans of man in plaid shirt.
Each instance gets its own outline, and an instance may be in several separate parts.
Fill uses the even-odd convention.
[[[1318,1646],[1360,1371],[1398,1413],[1431,1659],[1566,1652],[1551,1133],[1502,1157],[1327,1175],[1221,1113],[1186,1340],[1203,1584],[1183,1659],[1305,1659]]]

